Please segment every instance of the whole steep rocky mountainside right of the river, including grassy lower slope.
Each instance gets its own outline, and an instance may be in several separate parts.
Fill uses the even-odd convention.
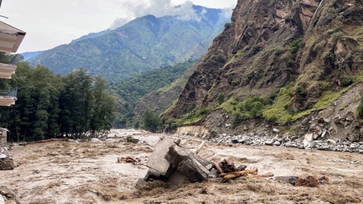
[[[238,0],[165,127],[362,138],[362,16],[362,0]]]

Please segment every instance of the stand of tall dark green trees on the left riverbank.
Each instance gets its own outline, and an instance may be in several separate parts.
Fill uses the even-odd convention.
[[[13,57],[0,53],[0,62],[9,64]],[[84,68],[61,76],[20,60],[12,79],[0,79],[0,90],[12,87],[18,87],[15,105],[0,106],[0,125],[11,141],[94,137],[113,125],[115,101],[106,80]]]

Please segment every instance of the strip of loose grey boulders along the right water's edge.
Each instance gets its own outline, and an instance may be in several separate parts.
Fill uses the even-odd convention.
[[[295,147],[300,149],[317,149],[325,151],[341,151],[341,152],[358,152],[363,154],[363,141],[362,142],[349,142],[343,140],[325,139],[316,137],[313,134],[306,134],[303,138],[298,136],[285,136],[281,137],[274,129],[275,136],[257,135],[257,134],[219,134],[215,138],[210,138],[209,141],[217,143],[233,143],[245,144],[251,146],[281,146],[281,147]],[[314,137],[315,136],[315,137]]]

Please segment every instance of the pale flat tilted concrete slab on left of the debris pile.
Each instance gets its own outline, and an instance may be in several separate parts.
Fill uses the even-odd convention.
[[[146,166],[158,172],[159,175],[168,177],[171,167],[168,160],[165,159],[165,155],[168,153],[169,148],[174,145],[174,138],[166,137],[163,140],[159,140]]]

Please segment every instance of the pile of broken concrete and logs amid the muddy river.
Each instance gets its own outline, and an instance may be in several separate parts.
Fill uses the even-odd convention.
[[[147,167],[149,168],[145,178],[139,179],[136,188],[140,188],[147,181],[162,180],[171,185],[179,185],[187,182],[201,182],[206,178],[223,177],[225,180],[239,176],[250,175],[251,177],[271,177],[273,174],[258,175],[257,168],[246,170],[247,166],[234,166],[227,160],[219,164],[211,163],[197,154],[203,147],[204,142],[192,152],[180,145],[180,139],[171,137],[160,137],[152,152]]]

